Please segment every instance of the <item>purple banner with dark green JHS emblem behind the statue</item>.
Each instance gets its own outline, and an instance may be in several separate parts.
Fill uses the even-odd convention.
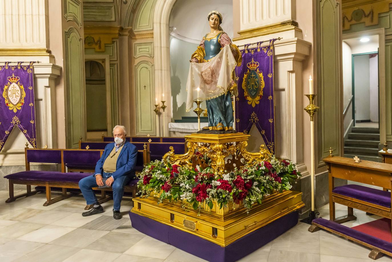
[[[275,153],[274,41],[258,42],[241,50],[242,63],[236,68],[236,130],[248,134],[252,125],[260,132],[268,150]]]

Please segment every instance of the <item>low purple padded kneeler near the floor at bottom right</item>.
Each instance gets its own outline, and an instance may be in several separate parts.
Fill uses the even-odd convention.
[[[346,227],[344,225],[338,224],[336,222],[326,220],[324,218],[316,218],[315,220],[312,221],[316,225],[322,225],[324,227],[328,227],[329,229],[332,229],[334,231],[338,231],[339,233],[343,233],[347,236],[350,236],[352,238],[355,238],[359,241],[365,242],[367,244],[370,244],[372,246],[378,247],[380,249],[383,249],[388,252],[392,252],[392,243],[387,242],[385,240],[376,238],[374,236],[370,236],[368,234],[362,233],[360,231],[357,231],[355,229],[352,229],[350,227]]]

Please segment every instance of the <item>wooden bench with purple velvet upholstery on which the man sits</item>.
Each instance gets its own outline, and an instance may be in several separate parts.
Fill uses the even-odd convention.
[[[103,150],[86,150],[86,149],[35,149],[25,148],[26,171],[9,174],[5,178],[9,181],[9,198],[6,203],[13,202],[18,198],[24,196],[31,196],[39,192],[38,190],[31,191],[31,185],[44,186],[46,191],[47,201],[44,206],[51,205],[60,200],[73,196],[72,193],[67,193],[67,189],[79,189],[79,181],[86,176],[93,175],[96,162],[102,156]],[[149,153],[147,150],[138,150],[138,158],[135,169],[141,171],[143,164],[149,161]],[[35,171],[30,170],[30,163],[53,163],[61,165],[61,172],[57,171]],[[89,165],[83,167],[83,165]],[[73,172],[65,172],[65,170],[72,170]],[[93,167],[94,166],[94,167]],[[89,173],[84,171],[90,170]],[[132,197],[136,196],[137,179],[132,179],[124,187],[125,192],[131,192]],[[14,184],[26,185],[27,192],[18,196],[14,195]],[[52,199],[51,188],[59,187],[62,189],[62,196]],[[106,191],[111,189],[98,189],[101,191],[100,203],[111,199],[111,196],[106,196]],[[89,206],[86,206],[86,208]]]

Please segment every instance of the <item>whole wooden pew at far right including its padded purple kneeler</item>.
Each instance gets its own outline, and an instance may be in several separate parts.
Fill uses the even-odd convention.
[[[370,247],[372,251],[369,257],[372,259],[380,258],[383,254],[392,256],[392,243],[341,225],[343,222],[356,219],[354,208],[391,219],[391,193],[354,184],[334,186],[335,178],[340,178],[390,190],[392,165],[366,160],[355,163],[354,159],[339,156],[328,156],[323,161],[328,167],[330,220],[316,218],[308,230],[315,232],[322,228]],[[347,216],[336,218],[335,203],[347,206]]]

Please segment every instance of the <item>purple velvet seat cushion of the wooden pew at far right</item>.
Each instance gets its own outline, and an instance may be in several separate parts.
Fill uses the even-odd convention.
[[[342,185],[340,187],[335,187],[332,192],[376,205],[381,205],[383,207],[391,207],[391,193],[387,191],[364,187],[361,185]]]

